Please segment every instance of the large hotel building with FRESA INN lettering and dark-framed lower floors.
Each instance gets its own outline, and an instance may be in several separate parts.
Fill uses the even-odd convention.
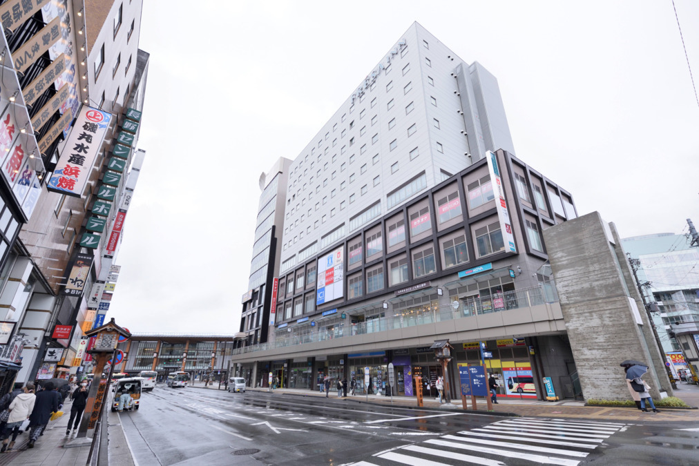
[[[364,367],[377,388],[393,363],[412,395],[411,374],[458,386],[483,342],[503,395],[541,396],[542,374],[576,394],[541,232],[577,212],[512,153],[480,64],[413,24],[291,163],[285,202],[271,337],[233,356],[249,384],[362,374],[362,391]],[[443,338],[449,374],[429,350]]]

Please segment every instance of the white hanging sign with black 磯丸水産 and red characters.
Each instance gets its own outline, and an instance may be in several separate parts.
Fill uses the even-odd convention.
[[[46,189],[78,198],[82,195],[112,118],[110,113],[82,107]]]

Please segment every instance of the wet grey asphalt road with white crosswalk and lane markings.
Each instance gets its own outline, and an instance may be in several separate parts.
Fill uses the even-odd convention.
[[[159,387],[120,419],[139,465],[699,464],[699,423],[504,418],[359,398]]]

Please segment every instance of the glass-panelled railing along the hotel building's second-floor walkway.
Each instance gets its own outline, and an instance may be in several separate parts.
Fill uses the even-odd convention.
[[[553,282],[532,286],[531,288],[496,293],[491,296],[457,300],[453,305],[413,307],[406,310],[394,310],[394,315],[368,319],[363,322],[336,325],[332,330],[319,329],[313,333],[294,333],[293,327],[289,335],[277,337],[274,342],[254,344],[248,347],[234,349],[232,354],[246,354],[255,351],[265,351],[282,347],[296,346],[334,340],[336,338],[366,335],[368,333],[385,332],[398,328],[408,328],[424,323],[435,323],[462,319],[464,317],[491,314],[506,310],[522,309],[545,303],[556,303],[559,300]]]

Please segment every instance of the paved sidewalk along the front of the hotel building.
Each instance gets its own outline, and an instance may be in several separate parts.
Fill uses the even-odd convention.
[[[217,386],[194,386],[202,390],[216,390]],[[247,388],[247,391],[259,391],[269,393],[267,388]],[[319,391],[303,390],[296,388],[277,388],[273,391],[276,395],[306,396],[325,398],[325,393]],[[699,406],[699,386],[682,384],[677,386],[675,396],[681,398],[687,405]],[[391,397],[383,395],[349,395],[347,398],[338,398],[337,392],[331,392],[328,402],[368,402],[373,405],[391,405]],[[393,405],[417,408],[417,400],[412,397],[396,396],[393,398]],[[450,404],[442,403],[435,398],[424,398],[423,405],[428,409],[449,409],[463,411],[461,400],[452,400]],[[468,412],[473,412],[471,402],[467,403]],[[485,398],[477,399],[477,413],[493,414],[496,416],[538,416],[538,417],[567,417],[579,419],[596,419],[606,421],[624,422],[699,422],[699,409],[665,409],[659,408],[661,412],[644,413],[635,408],[627,407],[599,407],[585,406],[583,401],[561,400],[557,402],[547,402],[540,400],[517,400],[514,398],[498,398],[498,404],[493,405],[493,412],[487,411],[487,401]]]

